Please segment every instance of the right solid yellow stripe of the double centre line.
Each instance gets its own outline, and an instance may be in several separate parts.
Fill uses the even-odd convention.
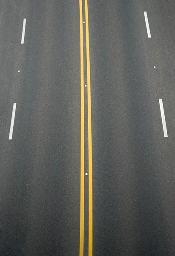
[[[92,256],[92,124],[91,124],[91,77],[89,54],[88,1],[85,0],[86,15],[86,58],[87,58],[87,94],[88,94],[88,153],[89,153],[89,256]]]

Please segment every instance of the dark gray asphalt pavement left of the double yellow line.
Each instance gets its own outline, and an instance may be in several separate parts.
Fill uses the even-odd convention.
[[[0,255],[75,256],[80,232],[79,3],[3,1],[0,8]],[[8,140],[14,102],[13,138]]]

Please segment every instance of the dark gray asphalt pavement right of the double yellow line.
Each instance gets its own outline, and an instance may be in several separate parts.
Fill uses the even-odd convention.
[[[95,256],[175,254],[174,10],[89,0]]]

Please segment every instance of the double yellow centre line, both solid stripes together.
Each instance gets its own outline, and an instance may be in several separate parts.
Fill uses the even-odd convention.
[[[84,65],[83,65],[83,7],[80,5],[80,83],[81,83],[81,146],[80,146],[80,254],[84,253]],[[86,16],[86,59],[88,101],[88,163],[89,163],[89,256],[92,256],[92,123],[91,123],[91,79],[89,55],[88,2],[85,0]]]

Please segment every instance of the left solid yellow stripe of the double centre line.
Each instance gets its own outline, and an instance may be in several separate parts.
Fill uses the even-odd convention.
[[[81,142],[80,142],[80,254],[84,253],[84,67],[83,67],[83,9],[80,4],[80,86],[81,86]]]

